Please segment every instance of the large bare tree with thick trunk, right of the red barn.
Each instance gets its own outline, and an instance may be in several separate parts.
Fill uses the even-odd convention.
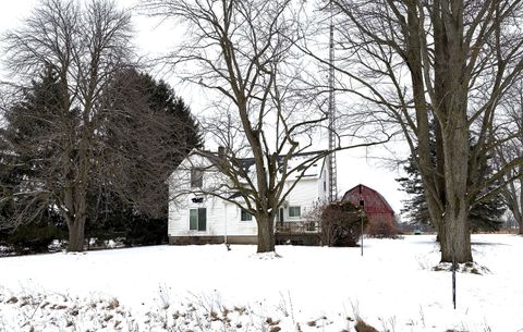
[[[498,106],[523,67],[522,1],[331,2],[345,89],[402,128],[439,230],[441,261],[472,261],[471,205],[522,163],[518,156],[488,180],[477,172],[499,144]]]

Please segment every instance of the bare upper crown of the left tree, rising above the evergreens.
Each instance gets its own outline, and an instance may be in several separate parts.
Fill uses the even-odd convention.
[[[31,82],[48,65],[66,82],[71,103],[89,109],[115,72],[134,61],[131,38],[131,14],[110,1],[42,0],[3,45],[17,78]]]

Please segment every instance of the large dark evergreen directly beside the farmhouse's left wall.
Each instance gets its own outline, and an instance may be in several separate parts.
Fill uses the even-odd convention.
[[[90,197],[97,200],[90,206],[100,213],[96,222],[87,224],[86,232],[98,238],[124,237],[130,245],[165,243],[167,179],[193,148],[202,147],[198,124],[167,83],[136,70],[122,72],[107,95],[110,109],[123,112],[107,114],[105,139],[112,149],[124,153],[109,151],[105,163],[123,169],[110,177],[112,186],[101,185],[101,193]],[[155,127],[144,126],[144,113],[157,119]],[[122,157],[126,161],[121,162]],[[143,197],[144,186],[148,187],[147,197]],[[163,204],[158,205],[158,200]]]

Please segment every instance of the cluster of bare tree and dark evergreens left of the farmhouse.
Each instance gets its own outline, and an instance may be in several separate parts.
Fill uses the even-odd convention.
[[[183,100],[139,72],[130,20],[110,1],[46,0],[5,34],[20,84],[2,104],[2,229],[53,220],[81,251],[108,216],[166,222],[167,177],[202,136]]]

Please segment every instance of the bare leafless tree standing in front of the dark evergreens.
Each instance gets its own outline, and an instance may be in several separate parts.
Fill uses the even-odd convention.
[[[3,38],[13,82],[22,82],[24,91],[7,118],[32,131],[28,142],[4,132],[9,151],[28,156],[25,163],[33,171],[10,190],[19,207],[12,223],[31,220],[29,211],[56,209],[68,224],[71,251],[84,248],[88,194],[110,183],[101,177],[108,168],[121,167],[102,162],[108,149],[100,137],[108,112],[118,111],[109,109],[107,90],[133,61],[130,20],[111,1],[42,0]],[[41,102],[27,107],[35,91],[31,81],[42,71],[44,79],[35,83],[41,96],[34,98]]]

